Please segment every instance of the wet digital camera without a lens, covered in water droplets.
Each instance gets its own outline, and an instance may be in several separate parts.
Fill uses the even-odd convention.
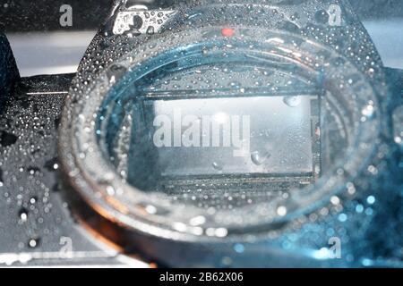
[[[0,265],[403,265],[403,72],[348,1],[118,0],[76,74],[0,46]]]

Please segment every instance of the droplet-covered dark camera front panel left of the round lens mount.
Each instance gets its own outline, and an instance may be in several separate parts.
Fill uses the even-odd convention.
[[[0,116],[0,266],[124,265],[82,230],[61,196],[56,122],[71,79],[22,80]]]

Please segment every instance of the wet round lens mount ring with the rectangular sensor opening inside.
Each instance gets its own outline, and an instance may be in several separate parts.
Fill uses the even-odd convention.
[[[61,159],[99,214],[169,240],[259,237],[371,159],[381,109],[355,64],[286,32],[231,31],[151,40],[67,99]]]

